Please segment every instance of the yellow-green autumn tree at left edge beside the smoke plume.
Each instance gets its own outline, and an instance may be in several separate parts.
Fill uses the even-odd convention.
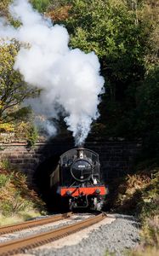
[[[22,107],[21,103],[38,93],[14,70],[14,58],[19,49],[20,44],[15,41],[0,43],[0,124],[27,119],[31,109]]]

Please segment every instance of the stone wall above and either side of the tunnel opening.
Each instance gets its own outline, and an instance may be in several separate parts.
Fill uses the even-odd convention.
[[[94,141],[87,142],[84,146],[99,154],[103,178],[122,177],[131,170],[133,160],[138,154],[140,143]],[[37,167],[49,157],[65,153],[74,148],[71,140],[60,139],[51,143],[37,143],[34,148],[26,148],[26,143],[0,143],[0,160],[9,159],[13,166],[26,173],[28,182],[32,183],[32,177]]]

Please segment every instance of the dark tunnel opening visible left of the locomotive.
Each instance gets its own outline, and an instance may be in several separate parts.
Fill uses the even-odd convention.
[[[58,201],[50,189],[50,175],[54,172],[59,160],[60,154],[52,155],[37,167],[33,176],[37,195],[46,203],[48,212],[58,211]]]

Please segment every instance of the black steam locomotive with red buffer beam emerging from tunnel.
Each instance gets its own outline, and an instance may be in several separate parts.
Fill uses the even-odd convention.
[[[87,148],[66,151],[50,176],[50,186],[65,208],[100,210],[106,188],[100,181],[99,154]]]

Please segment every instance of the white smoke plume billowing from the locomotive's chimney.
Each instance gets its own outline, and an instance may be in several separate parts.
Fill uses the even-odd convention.
[[[98,57],[94,52],[69,49],[65,27],[53,25],[27,0],[14,0],[9,11],[21,26],[15,29],[1,19],[0,37],[30,44],[29,49],[21,46],[14,69],[27,83],[43,89],[41,109],[47,108],[53,117],[55,105],[65,109],[68,130],[73,132],[77,145],[83,143],[92,121],[99,116],[97,107],[104,79],[99,75]]]

